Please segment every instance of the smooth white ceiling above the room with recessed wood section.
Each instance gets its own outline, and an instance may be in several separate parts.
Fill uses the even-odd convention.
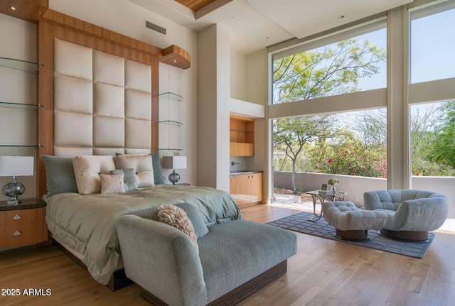
[[[232,47],[249,54],[291,38],[341,26],[413,0],[217,0],[194,12],[173,0],[128,0],[200,31],[218,23],[230,30]],[[343,15],[344,18],[338,16]]]

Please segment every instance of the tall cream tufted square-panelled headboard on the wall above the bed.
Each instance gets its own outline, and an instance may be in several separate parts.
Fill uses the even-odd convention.
[[[151,66],[55,38],[54,155],[151,151]]]

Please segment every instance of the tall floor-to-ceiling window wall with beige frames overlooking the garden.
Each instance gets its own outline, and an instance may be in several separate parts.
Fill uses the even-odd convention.
[[[317,166],[315,173],[333,175],[340,174],[341,169],[348,170],[343,175],[357,177],[343,177],[346,180],[343,188],[359,190],[357,178],[365,174],[358,175],[360,171],[355,170],[355,163],[341,153],[353,153],[359,151],[357,148],[363,148],[365,152],[378,155],[370,158],[365,152],[358,153],[359,160],[369,161],[369,166],[360,165],[364,173],[373,173],[375,167],[384,171],[382,180],[385,180],[385,185],[372,183],[369,189],[413,187],[444,192],[449,198],[455,198],[455,192],[452,195],[451,188],[444,187],[454,184],[452,170],[447,165],[450,148],[446,146],[450,143],[446,140],[451,136],[451,120],[455,121],[451,111],[455,101],[454,9],[454,0],[413,1],[385,12],[387,29],[384,17],[372,20],[368,25],[346,28],[344,32],[338,29],[333,35],[324,33],[320,39],[299,40],[299,45],[294,48],[270,48],[272,77],[268,118],[273,135],[277,131],[282,134],[281,138],[274,136],[271,170],[311,173],[310,169]],[[355,31],[360,33],[355,34]],[[368,43],[363,43],[362,38]],[[353,43],[359,45],[351,48]],[[343,61],[343,55],[349,55],[350,50],[359,52],[347,57],[352,66]],[[364,52],[366,50],[370,52]],[[382,58],[381,50],[387,50],[387,55],[392,56]],[[369,57],[365,56],[368,54]],[[358,64],[363,61],[363,65],[354,65],[355,61]],[[358,70],[350,70],[350,67]],[[351,112],[354,112],[354,119],[348,119]],[[316,140],[307,141],[301,146],[301,151],[294,149],[299,148],[299,141],[288,141],[291,146],[286,144],[284,126],[299,131],[297,121],[311,121],[318,117],[331,122],[329,130],[336,131],[335,136],[323,133]],[[384,129],[391,139],[386,139]],[[306,128],[301,135],[308,136],[310,131]],[[377,147],[365,149],[374,143],[372,139]],[[381,147],[378,147],[379,143]],[[429,148],[430,143],[434,145],[433,151]],[[382,153],[384,146],[389,156]],[[314,152],[319,158],[312,157],[310,153]],[[336,153],[344,158],[338,163],[334,163]],[[371,161],[381,158],[381,161],[387,159],[387,165],[376,163],[373,167]],[[423,176],[436,177],[437,180],[429,182],[423,180]],[[316,188],[326,177],[295,178],[294,190]],[[361,201],[363,191],[362,187],[357,191],[358,201]]]

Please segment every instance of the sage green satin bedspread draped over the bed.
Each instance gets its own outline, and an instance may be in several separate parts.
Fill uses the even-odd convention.
[[[117,268],[120,248],[115,222],[123,214],[150,215],[161,204],[187,202],[198,207],[206,224],[241,218],[228,192],[210,187],[157,185],[122,194],[61,193],[45,201],[48,229],[82,254],[82,262],[102,284],[107,284]]]

